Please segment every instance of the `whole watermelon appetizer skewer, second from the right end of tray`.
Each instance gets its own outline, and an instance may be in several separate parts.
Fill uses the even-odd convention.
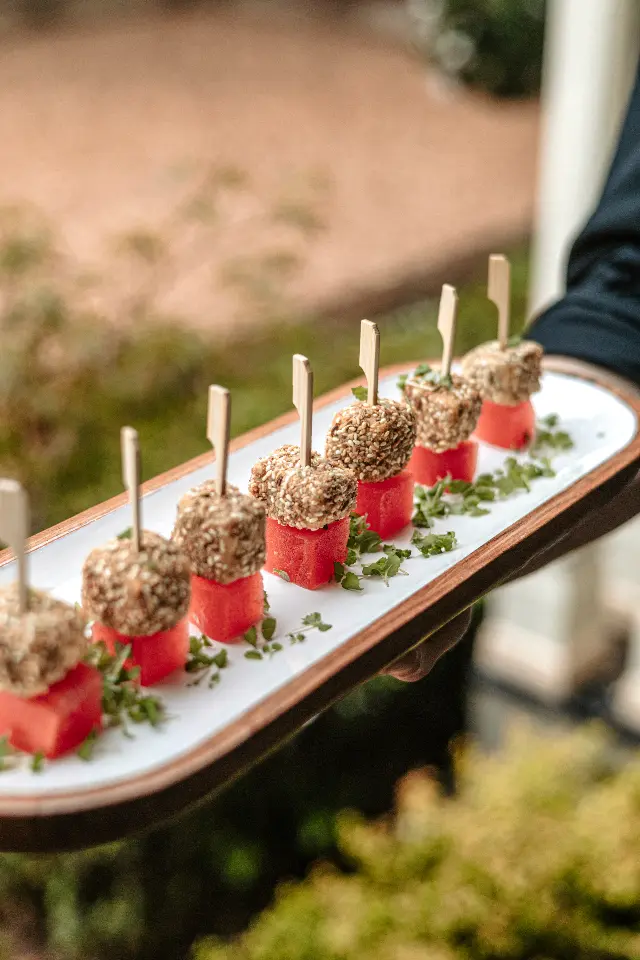
[[[451,373],[457,306],[455,289],[445,284],[438,315],[443,341],[441,368],[418,367],[403,387],[417,421],[417,443],[409,470],[417,483],[429,487],[447,476],[470,483],[478,461],[478,444],[470,438],[482,399],[466,378]]]

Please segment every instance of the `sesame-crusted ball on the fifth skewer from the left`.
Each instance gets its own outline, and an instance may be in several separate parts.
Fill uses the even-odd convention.
[[[325,456],[366,483],[401,473],[416,442],[416,418],[406,403],[352,403],[338,411],[327,434]]]

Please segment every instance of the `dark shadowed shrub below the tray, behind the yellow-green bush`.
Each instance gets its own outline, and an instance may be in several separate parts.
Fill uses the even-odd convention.
[[[32,936],[64,960],[177,960],[198,936],[244,929],[284,878],[319,857],[346,866],[336,848],[344,807],[380,816],[415,766],[438,767],[446,784],[470,647],[468,638],[421,683],[356,690],[220,797],[149,836],[0,856],[0,920],[29,917]]]

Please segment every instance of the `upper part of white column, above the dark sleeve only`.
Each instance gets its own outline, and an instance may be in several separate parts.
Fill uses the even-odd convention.
[[[600,192],[638,57],[638,0],[549,0],[530,312],[564,290]]]

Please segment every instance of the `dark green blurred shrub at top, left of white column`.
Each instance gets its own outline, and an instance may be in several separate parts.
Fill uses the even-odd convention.
[[[407,0],[417,42],[449,77],[506,97],[540,87],[545,0]]]

